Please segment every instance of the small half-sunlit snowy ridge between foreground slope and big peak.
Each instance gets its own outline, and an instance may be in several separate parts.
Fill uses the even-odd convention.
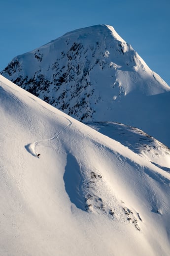
[[[87,125],[170,172],[170,149],[138,128],[114,122],[92,122]]]

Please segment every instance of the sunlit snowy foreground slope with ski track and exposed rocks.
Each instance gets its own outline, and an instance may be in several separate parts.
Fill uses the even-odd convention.
[[[1,255],[170,255],[170,173],[2,76],[0,117]]]

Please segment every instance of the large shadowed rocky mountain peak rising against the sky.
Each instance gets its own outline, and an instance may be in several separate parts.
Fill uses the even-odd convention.
[[[69,32],[1,74],[80,121],[136,126],[170,147],[170,87],[111,26]]]

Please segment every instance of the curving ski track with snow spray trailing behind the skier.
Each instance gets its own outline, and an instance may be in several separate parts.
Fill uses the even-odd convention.
[[[25,146],[26,150],[27,150],[30,154],[32,154],[32,155],[34,155],[34,156],[37,157],[36,146],[37,146],[39,143],[41,143],[41,142],[48,142],[48,141],[52,141],[52,140],[54,140],[54,139],[57,139],[57,138],[59,137],[59,135],[61,135],[66,129],[68,129],[68,128],[71,126],[72,122],[71,122],[67,117],[64,117],[64,118],[66,118],[66,119],[68,120],[69,124],[68,124],[63,130],[59,131],[59,132],[58,132],[55,136],[53,136],[52,138],[44,139],[44,140],[39,140],[39,141],[35,141],[35,142],[33,142],[33,143],[30,143],[30,144],[26,145],[26,146]]]

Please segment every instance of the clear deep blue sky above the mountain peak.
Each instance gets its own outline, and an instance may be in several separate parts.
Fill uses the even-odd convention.
[[[108,24],[170,85],[170,0],[0,0],[0,70],[68,31]]]

